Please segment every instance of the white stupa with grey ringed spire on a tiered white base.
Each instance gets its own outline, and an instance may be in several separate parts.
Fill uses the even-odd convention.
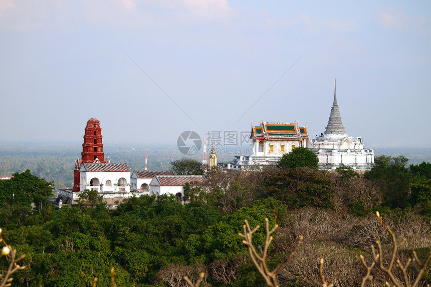
[[[319,158],[319,169],[336,169],[342,164],[354,170],[369,170],[374,164],[374,150],[364,149],[362,137],[347,135],[341,122],[337,103],[337,90],[334,89],[334,103],[324,133],[308,142],[307,147]]]

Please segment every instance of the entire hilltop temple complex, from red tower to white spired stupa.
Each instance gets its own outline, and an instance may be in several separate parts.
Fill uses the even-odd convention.
[[[307,127],[298,122],[265,122],[257,126],[252,124],[250,139],[253,143],[252,155],[236,155],[232,163],[218,163],[214,143],[209,153],[208,168],[219,167],[222,170],[254,170],[276,165],[286,153],[296,147],[307,147],[316,153],[319,168],[335,170],[344,165],[356,171],[368,170],[374,164],[374,150],[365,149],[361,137],[347,135],[341,122],[337,103],[336,86],[334,101],[325,132],[310,140]],[[205,145],[204,145],[205,146]],[[206,148],[203,163],[206,162]],[[206,165],[202,164],[206,170]],[[119,203],[132,196],[174,195],[179,201],[183,197],[183,186],[193,182],[203,183],[202,175],[175,175],[168,170],[130,171],[127,163],[111,163],[105,158],[100,122],[92,118],[87,121],[84,130],[81,158],[77,158],[74,167],[73,189],[61,189],[53,200],[56,207],[62,204],[76,204],[79,195],[85,190],[95,190],[103,196],[108,207],[114,209]]]

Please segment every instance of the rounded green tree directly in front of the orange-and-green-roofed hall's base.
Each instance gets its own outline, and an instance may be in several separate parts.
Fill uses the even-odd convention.
[[[290,153],[285,153],[278,161],[279,167],[312,167],[317,169],[319,158],[317,155],[306,147],[297,147]]]

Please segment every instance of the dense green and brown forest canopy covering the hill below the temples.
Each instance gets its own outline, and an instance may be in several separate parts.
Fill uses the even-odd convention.
[[[264,286],[238,235],[244,219],[252,227],[280,225],[269,247],[274,268],[296,244],[297,254],[278,275],[281,286],[320,285],[315,268],[325,257],[325,273],[337,286],[359,285],[370,260],[370,244],[390,250],[390,236],[375,211],[407,242],[399,249],[405,262],[414,250],[422,259],[431,250],[431,164],[406,165],[404,156],[376,157],[375,166],[357,174],[310,167],[275,167],[253,172],[209,172],[202,185],[184,188],[183,204],[173,196],[133,197],[114,211],[97,194],[85,193],[80,206],[59,210],[47,204],[49,183],[30,171],[0,182],[2,236],[27,254],[13,286],[111,285],[185,286],[204,271],[204,285]],[[32,203],[36,206],[32,206]],[[400,239],[400,238],[397,238]],[[253,236],[263,246],[265,230]],[[6,270],[6,257],[0,258]],[[369,261],[368,261],[369,262]],[[412,276],[413,271],[408,273]],[[382,286],[384,274],[372,271],[367,286]],[[401,274],[395,275],[402,280]],[[431,263],[420,284],[431,282]]]

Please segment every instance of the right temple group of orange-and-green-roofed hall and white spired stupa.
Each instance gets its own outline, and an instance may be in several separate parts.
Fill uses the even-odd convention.
[[[277,164],[280,157],[290,153],[295,147],[307,147],[316,153],[319,169],[335,170],[344,165],[353,170],[369,170],[374,164],[374,150],[365,149],[361,137],[347,135],[341,122],[337,103],[337,90],[334,88],[334,102],[328,125],[324,133],[309,140],[307,128],[295,123],[267,123],[252,125],[250,138],[253,141],[253,154],[235,156],[232,163],[219,164],[222,169],[253,170]]]

